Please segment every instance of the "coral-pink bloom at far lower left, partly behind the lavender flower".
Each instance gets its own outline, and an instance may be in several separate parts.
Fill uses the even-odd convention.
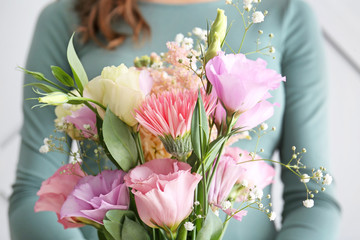
[[[65,229],[83,226],[83,224],[76,223],[76,219],[72,217],[60,218],[61,207],[68,195],[74,190],[75,185],[83,177],[85,177],[85,174],[79,164],[70,163],[59,168],[54,175],[41,184],[41,188],[37,192],[40,198],[35,203],[35,212],[55,212],[58,217],[58,222],[61,223]]]

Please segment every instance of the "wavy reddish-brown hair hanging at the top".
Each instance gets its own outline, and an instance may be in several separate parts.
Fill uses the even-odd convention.
[[[136,0],[76,0],[75,11],[80,19],[78,30],[84,42],[93,40],[107,49],[122,44],[129,36],[114,31],[111,24],[116,20],[123,20],[131,27],[135,42],[142,31],[145,37],[150,36],[150,26],[141,15]],[[104,36],[105,42],[97,33]]]

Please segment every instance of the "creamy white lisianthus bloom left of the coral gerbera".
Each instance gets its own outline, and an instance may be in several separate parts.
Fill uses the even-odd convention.
[[[139,107],[152,87],[152,78],[146,70],[105,67],[101,75],[91,80],[84,89],[84,96],[91,98],[110,110],[129,126],[134,126],[134,109]],[[96,106],[102,118],[105,111]]]

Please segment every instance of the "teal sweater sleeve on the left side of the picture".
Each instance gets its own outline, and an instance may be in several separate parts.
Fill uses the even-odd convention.
[[[50,65],[57,65],[70,73],[67,64],[67,42],[72,34],[72,26],[64,1],[47,6],[39,16],[28,54],[26,69],[44,73],[51,78]],[[66,10],[66,11],[65,11]],[[26,75],[24,84],[35,80]],[[24,87],[24,99],[37,97],[31,87]],[[33,108],[35,101],[24,100],[24,122],[16,180],[10,197],[9,223],[11,239],[85,239],[79,229],[64,230],[57,223],[53,212],[34,212],[38,199],[36,195],[42,181],[50,177],[68,155],[50,152],[41,154],[39,148],[43,139],[54,134],[54,107]],[[66,137],[57,134],[57,137]],[[68,149],[65,149],[68,152]]]

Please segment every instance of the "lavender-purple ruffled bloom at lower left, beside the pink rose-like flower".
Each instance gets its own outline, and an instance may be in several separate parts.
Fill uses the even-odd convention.
[[[86,176],[75,186],[64,202],[61,218],[82,218],[103,224],[108,210],[129,208],[129,189],[124,184],[125,172],[105,170],[96,176]],[[85,221],[84,221],[85,222]]]

